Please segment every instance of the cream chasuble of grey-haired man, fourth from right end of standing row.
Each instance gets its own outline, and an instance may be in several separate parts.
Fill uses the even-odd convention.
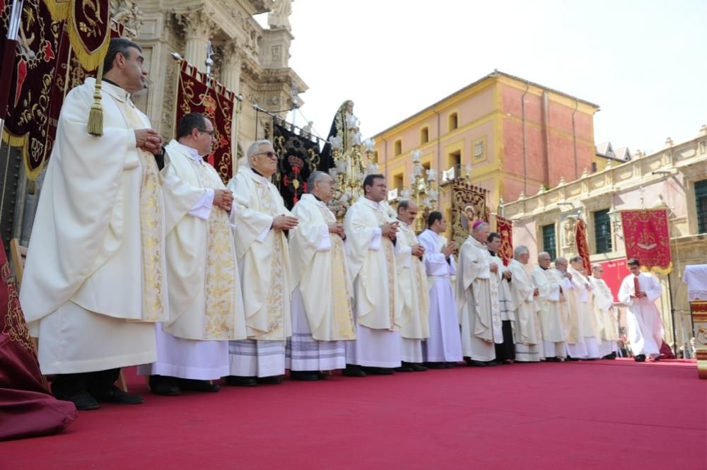
[[[560,278],[554,269],[542,269],[535,266],[532,271],[533,286],[539,291],[535,302],[537,302],[540,312],[540,327],[542,327],[542,339],[551,343],[564,343],[567,338],[566,332],[566,305],[560,287]],[[552,351],[546,351],[546,356],[554,356]]]

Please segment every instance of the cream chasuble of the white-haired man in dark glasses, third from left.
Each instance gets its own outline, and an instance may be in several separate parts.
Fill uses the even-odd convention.
[[[277,188],[247,165],[228,182],[236,205],[235,252],[248,338],[284,341],[292,334],[290,252],[276,216],[291,213]]]

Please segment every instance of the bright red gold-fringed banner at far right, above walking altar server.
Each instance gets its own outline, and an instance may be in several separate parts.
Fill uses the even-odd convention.
[[[621,211],[626,259],[641,261],[641,269],[670,274],[670,228],[667,209]]]

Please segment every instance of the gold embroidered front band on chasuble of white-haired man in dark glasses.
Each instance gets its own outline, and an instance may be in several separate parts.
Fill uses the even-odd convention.
[[[259,211],[267,213],[269,216],[279,216],[277,206],[272,199],[269,184],[261,182],[255,183],[258,189]],[[268,331],[255,336],[255,339],[269,340],[284,340],[284,316],[283,316],[283,298],[284,294],[284,270],[282,269],[284,247],[282,238],[284,234],[281,231],[273,229],[273,246],[272,258],[270,262],[270,285],[268,286],[267,300],[265,308],[267,309],[267,324]],[[289,295],[289,293],[287,293]]]

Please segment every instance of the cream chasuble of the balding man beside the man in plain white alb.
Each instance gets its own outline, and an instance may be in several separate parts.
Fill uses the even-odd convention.
[[[430,336],[430,297],[425,265],[412,254],[412,247],[417,244],[417,237],[410,225],[400,221],[395,264],[402,304],[400,336],[408,339],[426,339]]]

